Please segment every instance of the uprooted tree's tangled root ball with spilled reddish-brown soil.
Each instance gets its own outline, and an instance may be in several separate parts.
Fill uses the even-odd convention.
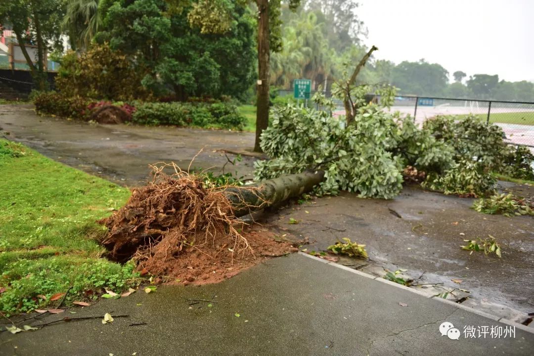
[[[180,170],[166,175],[163,168],[153,167],[153,181],[134,189],[123,208],[99,221],[108,227],[101,241],[108,258],[133,258],[139,270],[174,280],[215,282],[263,256],[291,250],[257,231],[245,237],[246,224],[234,217],[221,188],[207,189]]]

